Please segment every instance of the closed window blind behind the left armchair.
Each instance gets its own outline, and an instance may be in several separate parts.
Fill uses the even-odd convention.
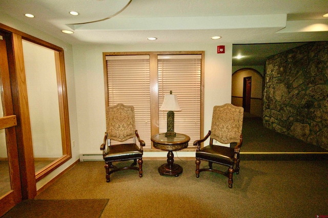
[[[106,56],[109,106],[134,106],[135,126],[151,148],[149,55]]]

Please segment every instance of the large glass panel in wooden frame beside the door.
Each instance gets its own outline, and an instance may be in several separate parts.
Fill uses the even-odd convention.
[[[63,156],[54,51],[23,40],[35,171]]]

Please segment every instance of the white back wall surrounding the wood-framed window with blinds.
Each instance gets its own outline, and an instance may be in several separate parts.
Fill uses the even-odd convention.
[[[205,51],[204,133],[207,134],[213,106],[231,102],[232,44],[225,45],[225,54],[216,53],[218,45],[73,46],[80,154],[101,154],[99,146],[106,131],[103,52]],[[144,156],[149,155],[146,153]]]

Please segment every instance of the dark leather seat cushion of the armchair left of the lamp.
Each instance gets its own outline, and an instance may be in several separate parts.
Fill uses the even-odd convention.
[[[118,144],[108,147],[105,161],[120,161],[142,158],[142,152],[136,144]]]

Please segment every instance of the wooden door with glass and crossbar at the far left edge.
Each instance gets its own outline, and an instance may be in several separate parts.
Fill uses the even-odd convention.
[[[0,216],[22,201],[15,130],[17,121],[13,113],[7,55],[8,38],[9,35],[0,32]]]

